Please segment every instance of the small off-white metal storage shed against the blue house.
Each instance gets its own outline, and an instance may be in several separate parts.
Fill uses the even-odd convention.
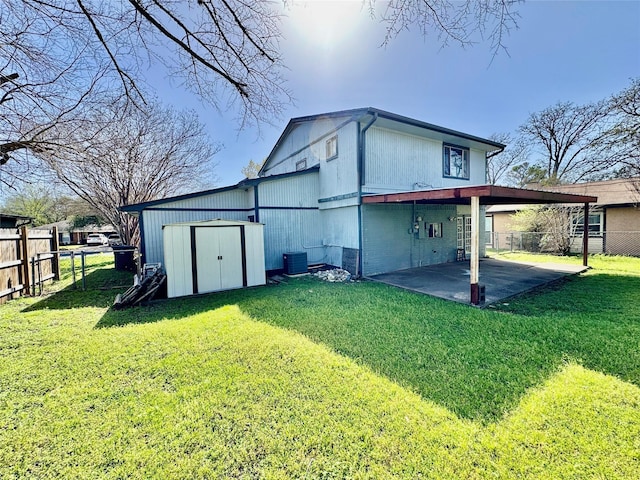
[[[266,283],[261,223],[217,219],[162,228],[169,298]]]

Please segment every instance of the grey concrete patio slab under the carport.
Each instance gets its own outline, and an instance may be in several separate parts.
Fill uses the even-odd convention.
[[[480,260],[480,284],[485,286],[485,306],[533,288],[583,272],[588,267],[560,263]],[[443,263],[373,275],[375,281],[459,303],[470,303],[469,262]]]

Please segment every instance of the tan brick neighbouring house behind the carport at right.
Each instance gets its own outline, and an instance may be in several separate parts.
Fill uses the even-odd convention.
[[[541,187],[550,192],[566,192],[598,197],[589,210],[589,252],[613,255],[640,256],[640,178],[615,179],[601,182],[577,183],[557,187]],[[487,244],[514,231],[513,214],[528,205],[495,205],[487,209]],[[572,250],[580,250],[580,232],[584,215],[571,213],[572,224],[577,225]],[[503,242],[504,243],[504,242]]]

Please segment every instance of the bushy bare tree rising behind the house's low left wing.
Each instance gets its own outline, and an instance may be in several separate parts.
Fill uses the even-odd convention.
[[[213,186],[218,149],[194,112],[157,103],[145,112],[120,100],[99,112],[94,124],[91,141],[82,134],[73,148],[41,157],[62,183],[118,228],[124,241],[137,244],[138,223],[120,206]]]

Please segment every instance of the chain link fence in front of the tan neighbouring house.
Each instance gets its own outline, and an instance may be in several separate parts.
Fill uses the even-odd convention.
[[[486,247],[500,252],[582,253],[582,235],[558,236],[552,232],[488,232]],[[589,253],[640,257],[640,232],[603,232],[589,236]]]

